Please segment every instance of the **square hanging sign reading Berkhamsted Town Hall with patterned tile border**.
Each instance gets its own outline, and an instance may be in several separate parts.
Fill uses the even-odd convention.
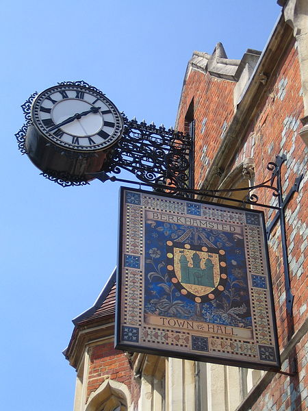
[[[279,369],[262,212],[121,189],[116,347]]]

